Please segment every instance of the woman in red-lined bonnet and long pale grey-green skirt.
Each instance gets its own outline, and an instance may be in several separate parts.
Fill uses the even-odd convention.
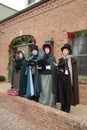
[[[38,62],[39,69],[39,103],[55,107],[57,68],[55,57],[49,44],[43,45],[44,56]]]

